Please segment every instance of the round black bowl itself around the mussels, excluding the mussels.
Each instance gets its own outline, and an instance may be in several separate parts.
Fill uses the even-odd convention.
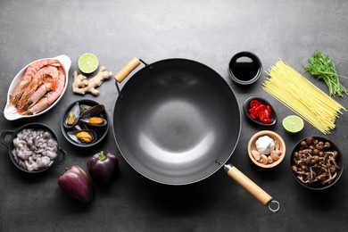
[[[68,112],[70,112],[70,109],[72,108],[72,106],[74,106],[76,103],[79,103],[80,105],[86,104],[89,106],[94,106],[94,105],[99,104],[99,103],[97,103],[93,100],[89,100],[89,99],[79,100],[79,101],[76,101],[76,102],[73,102],[72,104],[70,104],[62,114],[62,118],[61,118],[62,135],[70,142],[71,145],[76,145],[79,147],[90,147],[90,146],[99,144],[104,139],[104,137],[106,137],[106,135],[109,131],[110,119],[109,119],[108,113],[105,110],[103,112],[101,112],[102,117],[107,121],[107,124],[105,126],[103,126],[103,127],[93,127],[93,126],[88,127],[88,129],[95,130],[95,132],[97,134],[95,141],[93,141],[91,143],[77,142],[77,141],[73,140],[68,135],[68,133],[71,131],[74,131],[75,128],[74,127],[73,128],[64,127],[64,123],[65,123],[64,121],[66,119],[66,116],[67,116]]]

